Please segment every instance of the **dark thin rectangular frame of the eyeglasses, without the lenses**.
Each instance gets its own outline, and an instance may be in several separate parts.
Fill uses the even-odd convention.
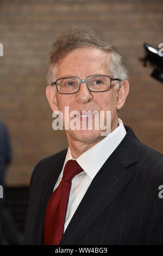
[[[97,78],[97,77],[99,77],[99,76],[107,76],[108,78],[110,78],[110,87],[109,87],[109,89],[108,90],[105,90],[105,91],[92,91],[92,90],[90,90],[90,88],[89,88],[89,86],[87,85],[87,79],[91,79],[91,78]],[[70,92],[70,93],[61,93],[61,92],[59,92],[59,90],[58,90],[58,87],[57,87],[57,81],[58,80],[61,80],[61,79],[68,79],[68,78],[59,78],[59,79],[57,79],[55,82],[52,82],[52,86],[53,85],[55,85],[56,87],[57,87],[57,92],[58,93],[60,93],[60,94],[74,94],[74,93],[77,93],[79,90],[80,90],[80,86],[81,86],[81,84],[82,84],[82,82],[85,82],[85,84],[86,84],[86,86],[87,86],[87,88],[88,88],[88,90],[90,91],[90,92],[107,92],[107,91],[109,91],[110,90],[110,88],[111,88],[111,82],[112,81],[122,81],[121,79],[119,79],[119,78],[111,78],[109,75],[93,75],[93,76],[88,76],[86,79],[84,79],[84,80],[81,80],[80,78],[72,78],[72,77],[69,77],[70,79],[77,79],[79,82],[80,82],[80,84],[79,84],[79,88],[78,88],[78,90],[76,91],[76,92]]]

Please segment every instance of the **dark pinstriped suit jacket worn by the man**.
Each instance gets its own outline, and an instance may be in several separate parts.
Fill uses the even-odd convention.
[[[60,245],[163,245],[163,156],[126,136],[93,178]],[[107,150],[107,148],[106,148]],[[41,245],[48,199],[67,150],[41,160],[30,181],[25,245]]]

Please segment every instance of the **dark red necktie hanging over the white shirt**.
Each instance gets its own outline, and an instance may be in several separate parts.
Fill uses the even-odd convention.
[[[68,160],[59,186],[49,198],[44,221],[43,245],[59,245],[64,234],[64,224],[71,189],[71,181],[84,171],[76,160]]]

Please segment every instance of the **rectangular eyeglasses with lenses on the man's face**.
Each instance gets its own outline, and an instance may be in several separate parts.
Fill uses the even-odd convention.
[[[121,81],[121,79],[111,78],[109,75],[94,75],[84,80],[79,78],[59,78],[51,85],[56,85],[60,94],[77,93],[82,82],[85,82],[90,92],[106,92],[110,90],[112,81]]]

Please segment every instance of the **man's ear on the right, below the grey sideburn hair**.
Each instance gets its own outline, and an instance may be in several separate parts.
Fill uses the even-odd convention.
[[[117,90],[117,110],[121,109],[129,93],[129,82],[127,80],[120,82],[120,88]]]

